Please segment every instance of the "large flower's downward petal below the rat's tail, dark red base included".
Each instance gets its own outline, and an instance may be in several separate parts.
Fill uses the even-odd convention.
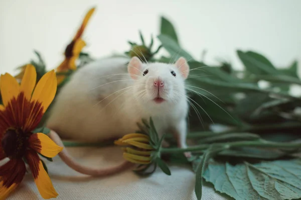
[[[38,154],[34,150],[28,150],[25,157],[41,196],[45,199],[57,197],[58,193],[55,191]]]

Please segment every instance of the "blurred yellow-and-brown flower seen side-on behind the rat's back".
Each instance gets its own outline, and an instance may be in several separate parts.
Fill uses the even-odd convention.
[[[65,49],[65,59],[64,61],[57,67],[56,71],[57,72],[67,72],[68,70],[76,70],[76,64],[75,61],[79,57],[79,54],[86,46],[86,43],[81,39],[81,36],[89,22],[90,17],[94,13],[95,8],[92,8],[89,10],[89,12],[86,14],[80,28],[78,29],[75,37],[71,41],[70,44]],[[64,79],[65,75],[58,75],[57,80],[58,84],[60,84]]]

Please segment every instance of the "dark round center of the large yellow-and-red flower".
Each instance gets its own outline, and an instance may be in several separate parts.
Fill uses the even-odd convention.
[[[26,136],[22,130],[8,129],[1,141],[6,156],[22,158],[26,150]]]

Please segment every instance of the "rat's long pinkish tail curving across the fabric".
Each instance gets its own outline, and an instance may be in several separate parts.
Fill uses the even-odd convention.
[[[118,173],[123,171],[131,166],[133,163],[128,161],[124,161],[120,165],[109,167],[109,168],[92,168],[88,166],[81,165],[80,163],[76,162],[74,158],[68,153],[67,149],[65,148],[60,136],[54,132],[53,130],[50,131],[48,136],[60,147],[63,147],[63,150],[59,153],[60,158],[72,169],[82,174],[87,174],[91,176],[106,176]]]

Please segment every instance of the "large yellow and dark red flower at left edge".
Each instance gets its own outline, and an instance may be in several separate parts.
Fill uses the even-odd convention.
[[[57,89],[54,70],[47,72],[36,85],[36,69],[27,65],[21,85],[10,74],[0,77],[3,105],[0,105],[0,199],[5,199],[22,181],[28,163],[43,198],[56,197],[52,182],[38,153],[54,157],[62,148],[47,135],[33,133],[53,101]]]

